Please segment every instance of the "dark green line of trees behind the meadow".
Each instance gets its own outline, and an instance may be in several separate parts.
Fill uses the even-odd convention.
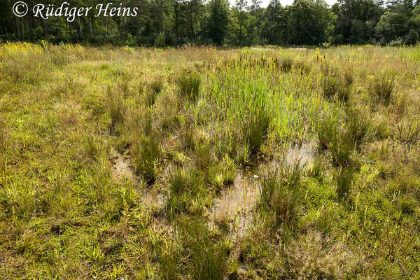
[[[61,5],[64,0],[27,0]],[[95,6],[97,0],[68,1]],[[412,45],[420,41],[420,0],[295,0],[281,6],[259,0],[122,0],[138,7],[135,17],[23,18],[13,15],[15,0],[0,2],[0,41],[41,41],[115,45],[184,44],[319,45],[379,43]],[[120,2],[118,2],[120,3]]]

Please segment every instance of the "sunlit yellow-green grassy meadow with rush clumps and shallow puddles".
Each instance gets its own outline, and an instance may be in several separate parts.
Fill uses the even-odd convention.
[[[0,46],[0,279],[419,279],[420,48]]]

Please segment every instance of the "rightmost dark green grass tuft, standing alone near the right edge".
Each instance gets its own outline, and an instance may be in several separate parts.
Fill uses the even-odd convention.
[[[394,86],[395,76],[391,73],[382,73],[372,81],[370,94],[372,94],[377,102],[388,105],[391,102]]]

